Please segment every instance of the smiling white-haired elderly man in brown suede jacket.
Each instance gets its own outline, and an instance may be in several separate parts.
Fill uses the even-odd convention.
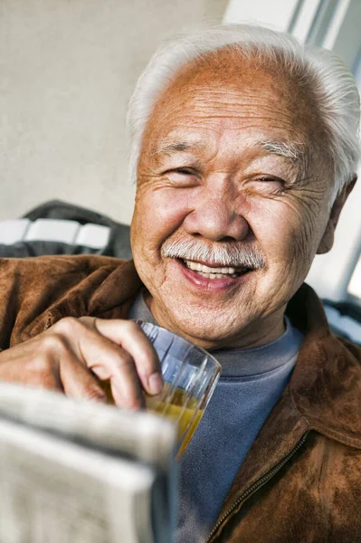
[[[129,110],[133,262],[3,261],[0,377],[136,407],[162,386],[137,324],[223,376],[180,466],[176,538],[361,538],[359,348],[303,281],[356,181],[359,98],[332,53],[250,26],[156,54]],[[331,272],[331,271],[330,271]]]

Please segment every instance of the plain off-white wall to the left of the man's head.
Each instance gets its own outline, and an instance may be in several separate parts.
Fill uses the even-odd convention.
[[[128,222],[127,100],[167,35],[226,0],[0,0],[0,220],[61,198]]]

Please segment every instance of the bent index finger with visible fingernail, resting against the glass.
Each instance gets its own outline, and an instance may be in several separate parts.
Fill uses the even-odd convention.
[[[163,376],[157,352],[146,334],[132,320],[91,319],[93,329],[127,351],[134,361],[138,378],[149,395],[157,395],[163,387]]]

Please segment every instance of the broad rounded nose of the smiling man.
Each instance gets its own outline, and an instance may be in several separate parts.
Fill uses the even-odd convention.
[[[193,211],[184,221],[185,232],[214,242],[223,239],[244,240],[251,228],[242,212],[237,211],[237,195],[224,187],[205,187],[192,202]]]

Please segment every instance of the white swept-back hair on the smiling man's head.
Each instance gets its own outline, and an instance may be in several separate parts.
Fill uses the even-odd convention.
[[[334,168],[331,197],[355,176],[360,156],[360,100],[353,75],[334,52],[302,45],[290,34],[250,24],[214,26],[164,43],[140,76],[128,108],[129,174],[137,180],[144,130],[159,93],[185,64],[211,52],[232,49],[242,58],[276,62],[306,84],[326,130],[324,142]]]

